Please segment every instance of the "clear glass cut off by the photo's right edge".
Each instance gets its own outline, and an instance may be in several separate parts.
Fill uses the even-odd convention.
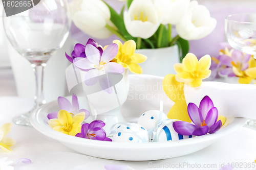
[[[225,32],[228,43],[234,49],[256,58],[256,13],[227,16]],[[256,130],[256,120],[248,119],[245,127]]]

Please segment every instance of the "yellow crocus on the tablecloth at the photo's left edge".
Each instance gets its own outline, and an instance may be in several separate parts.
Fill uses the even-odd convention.
[[[0,148],[5,152],[13,152],[11,148],[12,145],[16,143],[16,141],[10,137],[6,137],[6,135],[10,132],[12,129],[12,124],[7,123],[4,124],[0,128]]]

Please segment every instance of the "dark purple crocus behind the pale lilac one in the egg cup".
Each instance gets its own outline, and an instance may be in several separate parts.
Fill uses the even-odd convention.
[[[89,39],[87,41],[87,44],[91,44],[93,46],[95,46],[99,52],[102,54],[103,53],[103,49],[101,46],[98,46],[97,43],[93,40],[93,39]],[[86,45],[87,45],[86,44]],[[74,47],[74,51],[71,53],[71,56],[69,56],[67,53],[66,54],[66,57],[67,59],[73,63],[73,60],[77,57],[81,57],[81,58],[86,58],[86,46],[84,46],[83,44],[79,44],[77,43]]]

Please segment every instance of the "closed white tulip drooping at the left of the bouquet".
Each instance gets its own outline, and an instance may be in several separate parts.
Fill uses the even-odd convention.
[[[109,7],[101,0],[74,0],[70,3],[72,20],[76,27],[95,38],[112,35],[105,27],[111,25]]]

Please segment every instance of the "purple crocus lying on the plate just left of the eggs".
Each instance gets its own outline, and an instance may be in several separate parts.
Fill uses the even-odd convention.
[[[77,137],[93,139],[93,140],[104,140],[112,141],[110,138],[106,137],[106,132],[102,127],[105,123],[101,120],[94,120],[91,124],[83,124],[81,128],[81,133],[77,133]]]

